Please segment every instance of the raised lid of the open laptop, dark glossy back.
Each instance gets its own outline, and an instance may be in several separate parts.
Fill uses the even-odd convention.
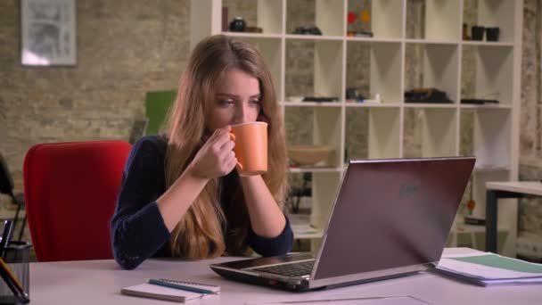
[[[438,261],[474,161],[350,161],[313,278]]]

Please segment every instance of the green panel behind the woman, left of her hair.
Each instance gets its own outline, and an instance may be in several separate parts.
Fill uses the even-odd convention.
[[[145,97],[145,111],[149,120],[145,135],[157,135],[166,119],[169,106],[175,100],[177,91],[150,91]]]

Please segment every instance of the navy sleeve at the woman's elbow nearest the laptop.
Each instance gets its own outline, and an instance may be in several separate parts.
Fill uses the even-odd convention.
[[[290,220],[286,218],[283,232],[273,238],[267,238],[257,235],[249,226],[249,234],[247,236],[248,243],[252,250],[256,251],[261,256],[283,255],[292,251],[293,232],[290,226]]]

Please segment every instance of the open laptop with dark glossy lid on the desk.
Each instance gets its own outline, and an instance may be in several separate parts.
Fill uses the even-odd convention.
[[[434,268],[474,157],[349,161],[316,256],[212,264],[220,276],[293,291],[333,288]]]

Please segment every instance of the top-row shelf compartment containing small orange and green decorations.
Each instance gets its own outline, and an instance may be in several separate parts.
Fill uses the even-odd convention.
[[[348,12],[357,15],[355,22],[347,25],[347,31],[372,31],[375,38],[403,37],[402,0],[349,0]],[[370,13],[370,23],[360,21],[360,13]]]

